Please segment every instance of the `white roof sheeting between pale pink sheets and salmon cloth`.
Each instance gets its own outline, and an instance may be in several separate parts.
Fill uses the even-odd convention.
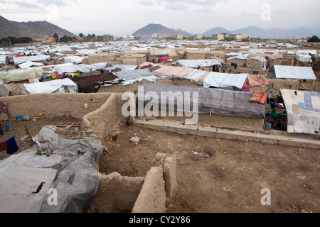
[[[210,72],[203,80],[203,87],[238,87],[242,89],[245,80],[247,79],[247,74],[228,74],[219,72]]]

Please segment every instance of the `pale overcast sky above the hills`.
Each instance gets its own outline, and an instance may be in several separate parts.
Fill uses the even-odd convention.
[[[217,26],[320,29],[319,12],[319,0],[0,0],[10,21],[48,21],[76,35],[131,35],[149,23],[193,34]]]

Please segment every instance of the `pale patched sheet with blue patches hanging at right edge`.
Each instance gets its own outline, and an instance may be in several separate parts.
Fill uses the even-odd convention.
[[[287,110],[287,132],[319,134],[320,93],[280,89]]]

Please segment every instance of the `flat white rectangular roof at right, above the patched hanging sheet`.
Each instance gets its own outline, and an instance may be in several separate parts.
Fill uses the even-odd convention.
[[[272,70],[274,69],[274,70]],[[316,80],[316,75],[312,67],[298,67],[298,66],[287,66],[287,65],[274,65],[270,72],[274,73],[268,74],[271,77],[275,76],[277,79],[314,79]]]

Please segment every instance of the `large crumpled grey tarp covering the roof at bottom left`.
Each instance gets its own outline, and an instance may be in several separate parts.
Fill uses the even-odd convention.
[[[99,185],[95,160],[106,148],[90,136],[62,138],[55,129],[43,126],[33,138],[57,148],[52,155],[36,155],[35,144],[0,161],[1,213],[85,213],[90,208]],[[41,191],[32,194],[41,182]],[[57,204],[49,203],[48,189],[56,190]]]

